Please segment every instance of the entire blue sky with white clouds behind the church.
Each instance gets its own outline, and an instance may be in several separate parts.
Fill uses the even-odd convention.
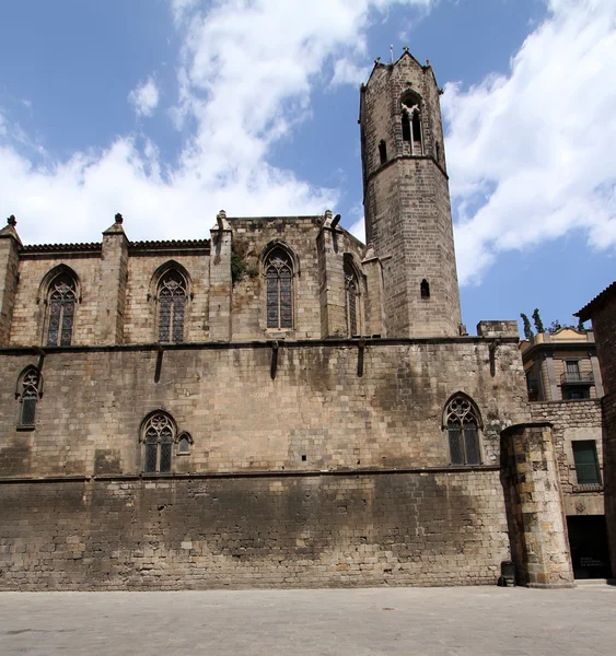
[[[209,236],[216,212],[362,231],[358,86],[403,46],[445,119],[463,319],[547,325],[614,279],[613,0],[0,4],[0,212],[24,242]]]

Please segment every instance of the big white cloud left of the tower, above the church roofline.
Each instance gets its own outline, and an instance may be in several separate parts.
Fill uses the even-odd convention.
[[[310,115],[311,93],[330,83],[335,60],[361,52],[372,12],[432,1],[220,0],[202,9],[170,0],[183,40],[175,118],[189,119],[178,161],[165,163],[155,143],[136,134],[66,161],[30,157],[3,139],[1,206],[30,243],[98,239],[118,211],[138,239],[208,236],[221,208],[230,215],[335,209],[337,190],[271,166],[269,149]],[[141,115],[153,112],[154,80],[131,102]]]

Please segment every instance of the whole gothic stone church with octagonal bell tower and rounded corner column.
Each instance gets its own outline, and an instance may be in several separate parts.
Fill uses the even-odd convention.
[[[572,584],[516,321],[461,324],[439,87],[361,87],[339,215],[0,232],[0,588]]]

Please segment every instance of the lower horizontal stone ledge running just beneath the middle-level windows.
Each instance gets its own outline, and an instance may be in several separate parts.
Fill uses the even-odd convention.
[[[100,476],[48,476],[48,477],[0,477],[0,484],[13,483],[83,483],[83,482],[120,482],[120,481],[189,481],[200,479],[239,479],[239,478],[316,478],[346,477],[359,478],[383,475],[421,475],[421,473],[483,473],[500,471],[499,465],[469,465],[468,467],[408,467],[408,468],[364,468],[364,469],[299,469],[267,471],[208,471],[199,473],[118,473]]]

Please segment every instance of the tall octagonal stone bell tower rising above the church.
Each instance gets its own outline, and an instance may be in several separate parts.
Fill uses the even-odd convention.
[[[405,49],[375,63],[360,104],[367,242],[387,337],[454,337],[461,311],[439,87]]]

